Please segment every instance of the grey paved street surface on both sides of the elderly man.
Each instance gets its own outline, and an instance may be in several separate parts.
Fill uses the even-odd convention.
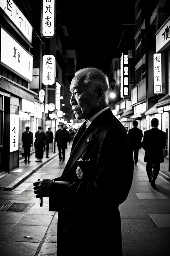
[[[70,149],[71,144],[66,150],[65,163]],[[65,163],[59,164],[56,156],[14,191],[0,192],[1,205],[3,200],[29,204],[23,212],[22,207],[17,205],[10,212],[3,212],[0,208],[1,256],[56,255],[57,212],[48,212],[48,198],[43,199],[43,207],[39,206],[32,184],[38,178],[52,179],[60,176]],[[120,182],[120,189],[123,189],[121,179],[115,182]],[[137,163],[129,196],[119,206],[123,256],[170,255],[170,183],[159,176],[156,185],[157,189],[150,186],[145,166]],[[114,248],[111,255],[114,255]]]

